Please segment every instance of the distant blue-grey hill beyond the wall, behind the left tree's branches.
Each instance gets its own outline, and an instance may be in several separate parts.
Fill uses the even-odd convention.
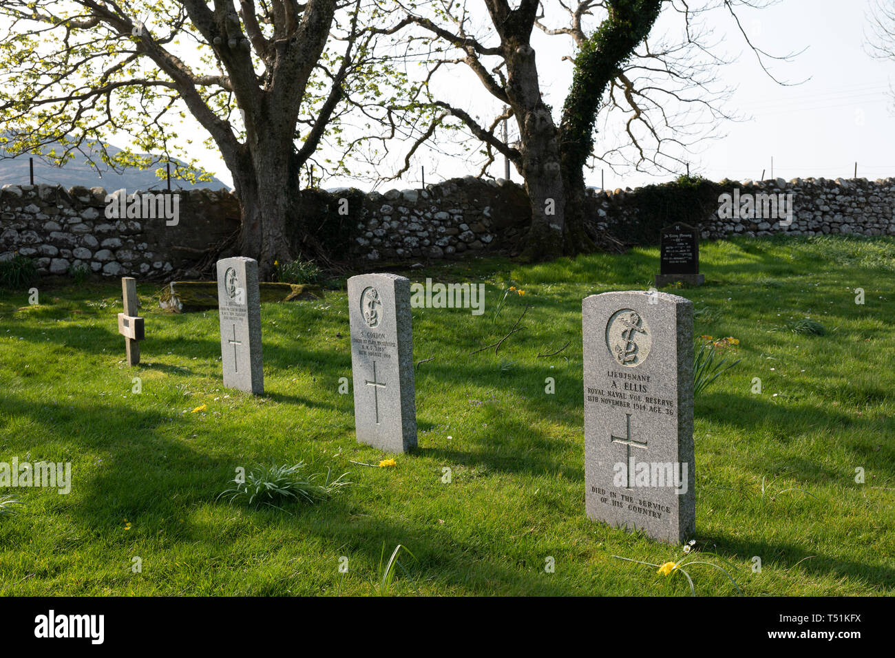
[[[82,150],[98,153],[98,144],[99,142],[93,142],[89,151],[84,147],[82,147]],[[51,148],[50,145],[47,145],[46,150]],[[121,151],[121,149],[111,144],[107,144],[106,148],[111,155]],[[56,146],[56,150],[61,152],[62,147]],[[0,185],[29,184],[29,158],[30,156],[27,154],[9,158],[7,151],[0,145]],[[106,167],[98,157],[95,159],[100,163],[100,167]],[[174,161],[182,165],[186,164],[183,160],[175,159]],[[35,156],[34,183],[61,184],[66,188],[72,187],[72,185],[103,187],[107,191],[120,190],[121,188],[126,190],[162,190],[166,188],[167,183],[165,178],[156,177],[155,172],[158,167],[164,166],[155,165],[149,167],[149,169],[124,169],[124,172],[120,174],[106,167],[101,171],[102,175],[100,176],[97,170],[88,163],[87,156],[78,151],[74,152],[74,157],[64,167],[53,167]],[[205,187],[211,190],[230,189],[228,185],[217,178],[213,178],[207,183],[198,184],[191,184],[187,181],[175,180],[174,178],[171,179],[171,189],[173,190],[195,190]]]

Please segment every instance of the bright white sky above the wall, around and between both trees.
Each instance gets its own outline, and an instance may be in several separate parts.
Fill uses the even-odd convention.
[[[730,105],[751,118],[721,126],[726,137],[705,141],[690,157],[691,174],[712,180],[765,177],[824,176],[851,177],[857,161],[857,175],[875,179],[895,176],[895,117],[891,114],[891,81],[895,62],[881,62],[867,55],[865,34],[869,33],[867,12],[871,0],[782,0],[761,11],[738,9],[742,24],[754,42],[773,55],[785,55],[807,47],[790,62],[771,62],[771,71],[785,81],[805,81],[795,87],[781,87],[763,73],[754,54],[723,12],[712,14],[715,37],[723,37],[723,47],[735,64],[720,70],[720,81],[737,87]],[[476,0],[471,0],[474,6]],[[568,42],[565,38],[541,36],[535,42],[542,87],[547,102],[561,107],[568,85],[569,65],[559,61]],[[556,48],[552,53],[549,47]],[[456,81],[465,73],[457,73]],[[450,84],[463,94],[450,98],[461,107],[474,109],[489,103],[477,82]],[[490,97],[488,97],[490,98]],[[199,130],[197,128],[197,130]],[[186,132],[186,131],[183,131]],[[204,137],[204,135],[203,135]],[[598,135],[598,139],[601,137]],[[205,151],[200,165],[232,184],[232,177],[216,152]],[[476,174],[477,167],[453,158],[418,158],[426,166],[427,183],[455,175]],[[391,174],[391,172],[383,172]],[[490,168],[491,175],[503,175],[502,158]],[[682,170],[679,173],[683,173]],[[599,186],[601,173],[590,173],[588,184]],[[631,170],[613,173],[605,169],[608,188],[636,187],[668,180],[671,175],[653,177]],[[519,175],[513,170],[513,178]],[[357,184],[345,179],[329,179],[325,187]],[[418,167],[388,187],[420,184]]]

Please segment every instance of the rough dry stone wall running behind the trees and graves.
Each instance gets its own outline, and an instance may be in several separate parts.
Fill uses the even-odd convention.
[[[725,193],[789,197],[791,224],[783,216],[725,217],[722,204],[697,218],[703,238],[855,234],[895,235],[895,179],[806,178],[723,181]],[[456,178],[419,190],[323,193],[328,208],[351,192],[339,239],[359,262],[457,258],[512,251],[527,225],[524,189],[505,180]],[[187,269],[203,250],[239,229],[239,204],[226,190],[178,192],[176,226],[164,218],[107,218],[102,188],[4,185],[0,189],[0,261],[18,252],[37,261],[41,274],[86,268],[108,277],[164,278]],[[637,190],[588,191],[589,219],[623,241],[625,227],[643,212]],[[305,209],[311,214],[314,208]],[[331,210],[327,210],[330,214]],[[326,212],[321,208],[320,217]],[[782,221],[781,221],[782,220]],[[320,222],[318,222],[320,223]],[[314,224],[314,222],[311,222]],[[658,232],[656,234],[658,242]],[[224,254],[228,255],[228,254]]]

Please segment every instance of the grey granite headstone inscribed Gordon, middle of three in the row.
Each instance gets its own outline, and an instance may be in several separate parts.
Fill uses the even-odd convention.
[[[388,452],[416,447],[410,280],[348,279],[357,440]]]

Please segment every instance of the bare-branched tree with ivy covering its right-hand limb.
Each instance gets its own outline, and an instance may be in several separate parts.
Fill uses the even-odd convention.
[[[465,0],[402,4],[405,17],[383,30],[414,30],[416,42],[435,54],[423,80],[431,106],[443,110],[433,121],[460,122],[484,144],[486,167],[495,155],[503,155],[523,176],[532,209],[523,253],[528,259],[591,251],[601,239],[584,222],[584,168],[594,159],[679,172],[681,153],[731,117],[722,107],[730,89],[715,84],[718,66],[728,60],[712,53],[712,32],[701,24],[703,14],[728,13],[765,71],[768,59],[792,56],[773,57],[755,47],[735,12],[735,5],[762,8],[772,0],[709,0],[697,9],[684,0],[556,0],[549,13],[547,2],[519,0],[514,7],[508,0],[484,0],[490,18],[484,27],[476,25]],[[682,25],[677,41],[648,40],[663,6]],[[532,47],[535,29],[569,39],[574,51],[563,57],[572,65],[572,83],[557,113],[544,101]],[[418,36],[421,31],[428,40]],[[508,109],[497,109],[492,121],[482,122],[456,96],[432,90],[433,77],[456,64],[473,72],[496,107]],[[613,110],[623,116],[626,139],[595,154],[597,118],[608,119]],[[516,120],[519,140],[514,144],[497,132],[508,117]],[[413,150],[434,132],[430,125]]]

